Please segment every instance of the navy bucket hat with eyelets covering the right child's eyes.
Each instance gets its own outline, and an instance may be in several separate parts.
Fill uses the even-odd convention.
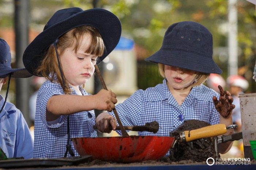
[[[184,21],[172,24],[163,38],[162,47],[146,61],[162,63],[201,73],[221,74],[212,59],[212,35],[203,25]]]

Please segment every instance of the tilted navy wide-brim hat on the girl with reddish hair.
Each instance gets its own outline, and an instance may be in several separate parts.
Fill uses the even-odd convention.
[[[105,52],[99,57],[101,62],[117,46],[121,37],[121,22],[112,12],[101,8],[83,11],[81,8],[61,9],[54,13],[52,18],[41,32],[26,48],[23,54],[23,64],[29,73],[34,73],[45,57],[49,46],[61,35],[79,26],[95,27],[105,44]]]

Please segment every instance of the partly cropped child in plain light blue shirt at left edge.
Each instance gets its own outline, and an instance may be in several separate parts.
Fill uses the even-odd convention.
[[[26,120],[14,104],[7,102],[11,77],[26,78],[32,75],[25,68],[11,68],[11,51],[4,39],[0,38],[0,91],[9,77],[5,99],[0,95],[0,148],[7,158],[32,158],[33,138]]]

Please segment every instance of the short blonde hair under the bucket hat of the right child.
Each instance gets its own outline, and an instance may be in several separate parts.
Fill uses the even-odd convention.
[[[160,75],[165,78],[165,65],[158,63],[158,69],[159,69],[159,73]],[[210,76],[209,73],[201,73],[201,72],[194,72],[192,78],[195,80],[195,82],[193,82],[193,84],[191,84],[192,87],[195,86],[200,86],[201,84],[203,84],[207,78]]]

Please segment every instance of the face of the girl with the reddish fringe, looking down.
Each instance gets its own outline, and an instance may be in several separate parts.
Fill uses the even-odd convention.
[[[83,85],[93,76],[97,56],[84,52],[88,49],[90,43],[91,35],[86,34],[76,53],[74,46],[72,46],[65,49],[60,56],[65,79],[71,86]]]

